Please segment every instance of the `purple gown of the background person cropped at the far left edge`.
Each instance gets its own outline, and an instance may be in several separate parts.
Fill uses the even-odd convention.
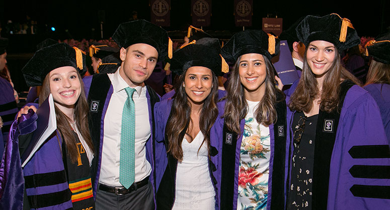
[[[18,113],[18,106],[14,97],[14,88],[11,83],[3,77],[0,77],[0,116],[3,119],[4,125],[0,128],[0,154],[3,155],[4,144],[8,139],[8,132],[11,124]]]

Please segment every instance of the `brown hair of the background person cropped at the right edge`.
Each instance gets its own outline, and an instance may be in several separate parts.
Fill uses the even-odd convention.
[[[365,85],[371,83],[384,83],[390,85],[390,64],[372,60],[370,68],[368,69],[367,82]]]

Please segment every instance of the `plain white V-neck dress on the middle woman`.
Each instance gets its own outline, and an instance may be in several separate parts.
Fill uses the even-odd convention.
[[[208,152],[199,131],[194,140],[182,142],[183,161],[176,172],[176,197],[172,209],[215,209],[215,190],[208,168]]]

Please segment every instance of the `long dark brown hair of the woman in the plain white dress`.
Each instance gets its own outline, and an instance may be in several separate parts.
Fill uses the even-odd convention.
[[[183,160],[182,141],[190,121],[192,121],[190,117],[191,104],[188,100],[185,88],[182,86],[186,72],[187,70],[179,76],[179,79],[175,84],[176,93],[173,96],[174,100],[172,102],[171,115],[165,129],[166,136],[169,140],[168,152],[170,152],[178,161]],[[218,80],[214,73],[212,73],[212,84],[211,93],[203,102],[199,119],[200,131],[204,135],[204,140],[200,147],[206,143],[208,151],[210,151],[210,129],[218,115],[216,106],[218,100]]]

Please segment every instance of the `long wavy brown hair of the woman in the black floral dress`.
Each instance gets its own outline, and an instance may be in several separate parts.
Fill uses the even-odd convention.
[[[332,112],[339,104],[341,82],[351,80],[353,83],[361,85],[360,81],[341,65],[340,54],[335,48],[335,60],[325,75],[320,94],[316,77],[307,64],[307,49],[304,55],[302,74],[288,106],[291,110],[309,112],[313,108],[313,101],[321,97],[320,109]]]

